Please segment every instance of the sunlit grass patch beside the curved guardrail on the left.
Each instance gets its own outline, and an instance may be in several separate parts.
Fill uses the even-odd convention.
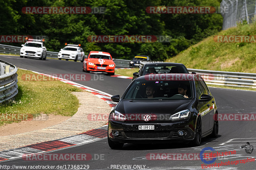
[[[31,118],[40,113],[72,116],[77,112],[79,101],[71,92],[84,90],[61,81],[25,81],[21,78],[23,74],[34,73],[21,69],[17,73],[18,95],[14,101],[0,105],[0,115],[21,114]],[[1,117],[0,126],[12,122]]]

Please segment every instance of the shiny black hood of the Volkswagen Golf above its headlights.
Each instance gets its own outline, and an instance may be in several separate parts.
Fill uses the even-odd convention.
[[[123,114],[168,114],[188,109],[192,99],[181,100],[127,100],[122,99],[116,110]]]

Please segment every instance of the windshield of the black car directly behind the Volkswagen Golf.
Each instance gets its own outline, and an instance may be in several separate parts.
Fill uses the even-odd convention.
[[[167,73],[185,73],[188,71],[185,67],[181,66],[148,66],[144,69],[142,75],[146,74],[167,74]]]

